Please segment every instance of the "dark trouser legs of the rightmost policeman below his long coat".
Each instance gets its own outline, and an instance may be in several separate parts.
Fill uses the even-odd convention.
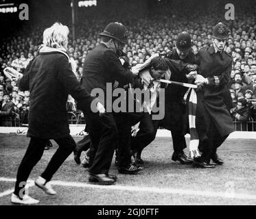
[[[226,140],[226,138],[228,138],[228,136],[229,135],[221,136],[216,125],[211,121],[207,138],[199,143],[199,149],[202,152],[202,161],[209,163],[211,157],[216,154],[218,147]]]

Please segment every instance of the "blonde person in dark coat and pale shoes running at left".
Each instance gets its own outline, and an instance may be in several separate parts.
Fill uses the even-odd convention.
[[[25,184],[32,168],[43,155],[47,140],[53,139],[59,145],[45,171],[36,179],[35,184],[45,193],[54,195],[49,181],[65,159],[75,149],[75,141],[69,134],[66,103],[68,94],[91,110],[91,102],[96,102],[95,111],[104,114],[100,102],[90,96],[76,79],[71,70],[66,53],[69,29],[55,23],[43,33],[43,47],[39,55],[30,62],[27,71],[19,79],[21,90],[30,90],[29,128],[27,137],[30,144],[19,166],[12,203],[36,204],[39,201],[28,196]]]

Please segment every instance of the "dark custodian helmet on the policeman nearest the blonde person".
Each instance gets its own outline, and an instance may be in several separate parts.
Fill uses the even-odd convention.
[[[128,31],[122,23],[109,23],[100,36],[108,36],[121,43],[128,44]]]

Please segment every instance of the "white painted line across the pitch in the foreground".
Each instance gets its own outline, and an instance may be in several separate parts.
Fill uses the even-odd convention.
[[[9,179],[0,177],[0,181],[13,182],[16,179]],[[30,186],[34,185],[34,181],[28,180]],[[154,192],[159,194],[183,194],[191,196],[207,196],[207,197],[219,197],[219,198],[235,198],[235,199],[251,199],[256,200],[256,195],[253,194],[239,194],[229,192],[209,192],[209,191],[196,191],[196,190],[179,190],[171,188],[155,188],[155,187],[138,187],[138,186],[124,186],[124,185],[93,185],[89,183],[67,182],[67,181],[51,181],[51,185],[61,185],[78,188],[95,188],[100,190],[124,190],[130,192]],[[9,193],[8,193],[9,192]],[[8,195],[12,192],[10,190],[0,194],[1,196]]]

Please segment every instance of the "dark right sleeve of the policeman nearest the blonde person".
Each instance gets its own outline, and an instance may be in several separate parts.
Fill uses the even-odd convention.
[[[104,56],[106,57],[106,64],[108,66],[109,73],[114,77],[120,78],[122,83],[132,83],[133,77],[132,72],[124,68],[121,65],[120,60],[117,58],[117,55],[113,51],[106,51]]]

